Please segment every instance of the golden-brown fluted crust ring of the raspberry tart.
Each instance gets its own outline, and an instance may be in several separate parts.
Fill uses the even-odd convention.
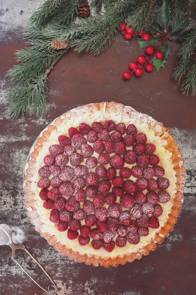
[[[77,251],[73,251],[70,247],[61,244],[57,241],[55,235],[50,235],[49,233],[43,232],[44,223],[41,221],[40,215],[35,207],[35,194],[31,188],[32,177],[37,174],[36,171],[36,160],[39,152],[49,141],[52,132],[57,131],[63,124],[68,124],[70,118],[77,119],[78,114],[82,116],[83,114],[91,113],[98,114],[110,114],[119,113],[121,116],[127,118],[133,118],[138,123],[145,123],[150,129],[155,132],[156,136],[161,137],[167,141],[165,148],[172,153],[172,164],[173,170],[175,171],[176,177],[176,193],[172,198],[172,207],[168,215],[168,219],[165,224],[158,229],[153,239],[143,248],[138,249],[138,251],[133,253],[125,253],[123,255],[117,255],[116,257],[100,257],[93,254],[80,254]],[[105,115],[105,120],[107,116]],[[70,126],[71,127],[71,126]],[[35,225],[35,230],[40,233],[40,236],[46,238],[48,243],[54,247],[55,250],[60,251],[63,256],[68,256],[70,260],[76,260],[81,263],[84,262],[86,265],[94,266],[118,266],[119,264],[124,265],[126,262],[133,262],[135,259],[141,259],[142,255],[149,254],[149,251],[156,250],[156,243],[162,243],[164,238],[168,236],[169,232],[173,230],[173,225],[177,222],[177,216],[180,214],[180,208],[182,207],[183,201],[183,189],[186,179],[186,169],[184,167],[184,159],[182,158],[182,153],[178,150],[178,147],[174,143],[174,139],[170,134],[169,129],[163,126],[161,122],[157,122],[147,115],[141,114],[129,106],[124,106],[123,104],[116,102],[101,102],[93,103],[85,106],[78,107],[76,109],[70,110],[69,112],[63,114],[62,116],[56,118],[49,127],[44,130],[37,140],[36,145],[31,150],[30,159],[27,163],[27,168],[25,171],[25,207],[27,209],[27,215],[30,217],[31,223]]]

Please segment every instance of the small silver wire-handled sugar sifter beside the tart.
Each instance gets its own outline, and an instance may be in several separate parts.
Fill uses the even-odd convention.
[[[6,225],[6,224],[0,224],[0,246],[3,245],[9,245],[10,248],[12,249],[12,256],[11,259],[18,265],[20,266],[23,271],[25,272],[25,274],[27,274],[27,276],[36,284],[38,285],[44,292],[46,292],[49,295],[55,295],[57,292],[57,288],[56,285],[54,284],[53,280],[50,278],[49,274],[46,272],[46,270],[41,266],[41,264],[30,254],[30,252],[26,249],[25,245],[19,245],[16,246],[12,243],[12,230],[11,228]],[[51,281],[52,284],[50,284],[48,286],[48,291],[45,290],[42,286],[40,286],[25,270],[25,268],[23,268],[23,266],[21,266],[18,261],[16,260],[15,257],[15,252],[17,249],[23,249],[25,250],[25,252],[36,262],[36,264],[44,271],[44,273],[47,275],[47,277],[49,278],[49,280]]]

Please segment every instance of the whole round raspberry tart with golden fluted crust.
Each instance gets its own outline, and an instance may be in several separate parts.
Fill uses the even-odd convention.
[[[154,251],[173,230],[185,171],[162,123],[119,103],[89,104],[39,136],[25,167],[25,207],[62,255],[123,265]]]

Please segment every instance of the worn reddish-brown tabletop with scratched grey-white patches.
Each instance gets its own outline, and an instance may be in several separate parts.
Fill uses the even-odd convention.
[[[25,243],[58,286],[58,295],[195,295],[196,294],[196,97],[181,94],[171,78],[179,44],[170,42],[171,55],[158,73],[123,81],[130,61],[136,60],[136,39],[122,34],[106,53],[94,57],[69,51],[49,74],[50,96],[45,114],[9,121],[3,115],[6,71],[15,63],[14,52],[25,47],[21,36],[30,14],[41,0],[0,0],[0,223],[13,230],[16,244]],[[140,261],[116,268],[86,266],[69,261],[41,238],[26,216],[23,171],[37,135],[54,118],[82,104],[117,101],[130,105],[171,129],[186,159],[187,181],[182,212],[174,231],[155,252]],[[0,247],[0,295],[44,295],[11,261],[11,249]],[[19,260],[42,284],[48,281],[19,252]],[[35,271],[34,271],[35,269]]]

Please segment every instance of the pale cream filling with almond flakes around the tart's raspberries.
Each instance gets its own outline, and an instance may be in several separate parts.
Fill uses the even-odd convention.
[[[72,113],[77,113],[77,110],[72,110]],[[83,112],[81,114],[81,112]],[[54,144],[59,144],[58,143],[58,136],[59,135],[67,135],[68,134],[68,129],[70,127],[78,127],[79,123],[81,122],[86,122],[88,124],[92,124],[94,121],[101,121],[104,122],[107,119],[112,119],[116,123],[123,122],[126,126],[130,123],[134,124],[139,132],[144,132],[147,135],[147,143],[153,143],[156,146],[155,154],[160,159],[159,165],[162,166],[165,169],[165,177],[167,177],[170,181],[170,186],[167,189],[168,193],[171,196],[171,200],[165,204],[161,204],[163,208],[163,214],[158,217],[160,227],[159,229],[151,229],[149,228],[149,235],[148,236],[141,236],[140,237],[140,242],[137,245],[133,245],[130,243],[126,243],[126,245],[122,248],[115,246],[114,250],[112,252],[107,252],[105,249],[100,248],[99,250],[95,250],[91,244],[89,243],[88,245],[81,246],[78,242],[78,239],[75,240],[70,240],[67,237],[67,231],[66,232],[59,232],[57,230],[57,227],[54,223],[52,223],[49,220],[49,215],[50,215],[50,210],[47,210],[43,207],[43,201],[39,197],[39,192],[40,188],[37,187],[37,181],[40,179],[38,173],[36,173],[32,177],[32,182],[31,182],[31,189],[35,194],[35,207],[40,215],[40,219],[43,222],[43,233],[49,233],[50,235],[54,235],[57,238],[57,241],[59,241],[61,244],[66,245],[69,248],[72,248],[73,251],[78,251],[80,254],[88,254],[88,255],[97,255],[100,256],[101,258],[103,257],[116,257],[118,255],[123,255],[125,253],[132,253],[136,251],[143,251],[143,247],[145,247],[155,236],[155,234],[160,230],[160,228],[166,223],[168,219],[168,214],[171,211],[172,208],[172,200],[174,197],[174,194],[176,193],[176,177],[175,177],[175,171],[173,170],[173,164],[172,164],[172,153],[169,152],[164,146],[167,144],[165,140],[162,140],[159,136],[155,136],[155,133],[152,129],[149,129],[147,120],[151,120],[152,124],[154,123],[154,120],[151,117],[148,118],[142,118],[143,123],[140,122],[140,118],[142,117],[142,114],[138,114],[138,117],[136,118],[130,118],[128,116],[124,116],[123,114],[119,113],[101,113],[100,111],[96,112],[95,114],[92,114],[90,112],[87,112],[86,110],[80,110],[80,114],[78,114],[77,117],[71,118],[70,113],[66,114],[67,118],[70,118],[68,122],[62,123],[61,126],[58,127],[57,132],[54,131],[51,133],[49,141],[44,145],[42,150],[39,152],[39,155],[37,157],[37,165],[36,165],[36,171],[39,170],[40,167],[42,167],[44,164],[44,157],[49,154],[49,146],[54,145]],[[62,116],[61,119],[64,119],[65,117]],[[158,128],[158,132],[161,132],[160,128],[161,126],[156,125],[156,128]],[[162,129],[162,128],[161,128]],[[167,132],[165,132],[167,133]],[[165,137],[167,137],[166,134],[164,134]],[[130,148],[131,149],[131,148]],[[98,157],[98,154],[94,152],[93,156]],[[69,163],[67,164],[69,165]],[[85,162],[81,163],[81,165],[85,165]],[[110,165],[106,166],[109,167]],[[129,167],[131,168],[133,165],[128,165],[125,163],[124,167]],[[27,168],[27,167],[26,167]],[[94,171],[95,168],[92,170]],[[51,178],[52,176],[50,176]],[[156,177],[154,177],[156,179]],[[135,177],[131,176],[130,179],[136,180]],[[112,187],[111,187],[112,189]],[[145,193],[147,192],[144,191]],[[66,197],[67,199],[68,197]],[[117,202],[119,202],[119,198],[117,198]],[[82,207],[82,203],[80,203],[80,207]],[[104,207],[108,207],[107,204],[105,204]],[[85,224],[84,220],[81,221],[81,224]],[[116,237],[115,237],[116,238]],[[114,239],[115,239],[114,238]]]

